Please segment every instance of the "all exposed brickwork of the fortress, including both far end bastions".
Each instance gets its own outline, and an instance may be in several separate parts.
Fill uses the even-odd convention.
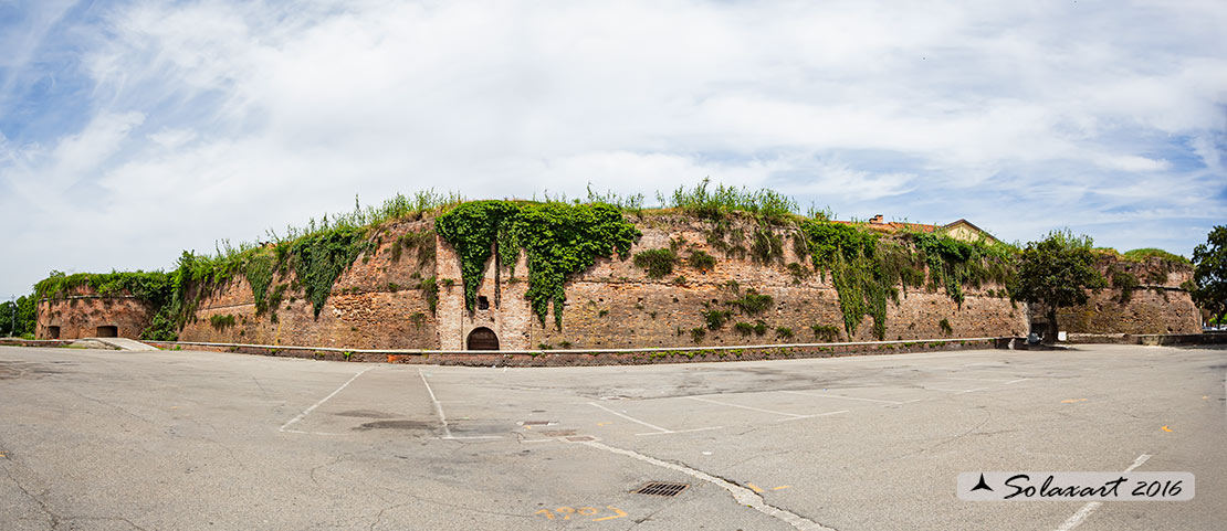
[[[434,237],[433,253],[402,245],[405,234],[433,234],[433,220],[388,223],[373,235],[378,245],[363,253],[337,278],[333,292],[317,316],[309,300],[298,289],[293,272],[277,273],[272,287],[285,285],[279,307],[256,314],[250,286],[240,275],[205,294],[196,311],[180,332],[182,341],[250,343],[272,346],[314,346],[367,350],[464,350],[466,338],[479,329],[492,330],[504,351],[585,350],[636,347],[701,347],[820,342],[811,326],[833,326],[837,341],[872,341],[872,319],[866,316],[849,337],[844,331],[838,294],[829,275],[812,272],[794,277],[788,265],[809,264],[794,251],[794,229],[777,228],[783,242],[783,256],[760,264],[747,253],[725,253],[708,243],[712,224],[683,216],[648,213],[633,218],[643,232],[631,249],[636,253],[669,248],[682,242],[682,260],[663,278],[649,278],[632,259],[600,259],[588,271],[574,276],[566,286],[567,303],[562,329],[555,327],[553,315],[545,324],[533,313],[528,291],[528,266],[523,253],[514,275],[491,260],[479,296],[488,309],[465,309],[460,262],[454,249]],[[753,233],[756,226],[734,221],[729,233]],[[748,238],[744,242],[750,246]],[[401,246],[398,253],[396,246]],[[706,251],[717,259],[714,269],[699,271],[686,258]],[[1074,332],[1195,334],[1200,331],[1196,310],[1189,294],[1179,289],[1188,267],[1163,269],[1164,278],[1153,287],[1146,280],[1158,280],[1162,262],[1131,265],[1103,261],[1107,270],[1129,270],[1144,287],[1128,303],[1119,302],[1119,291],[1106,289],[1082,307],[1063,310],[1063,330]],[[436,277],[438,302],[431,310],[423,278]],[[729,287],[735,282],[739,291]],[[728,304],[746,289],[768,294],[773,305],[758,315],[742,315]],[[898,303],[887,302],[886,340],[934,337],[1022,336],[1029,330],[1027,307],[999,297],[1002,286],[964,287],[960,305],[942,291],[924,288],[902,291]],[[272,292],[272,288],[270,288]],[[88,293],[83,293],[88,294]],[[75,302],[74,302],[75,300]],[[64,338],[93,336],[96,326],[119,326],[119,335],[136,337],[147,325],[148,309],[131,298],[82,298],[42,302],[38,337],[49,337],[48,325],[59,325]],[[733,310],[729,321],[708,330],[704,310]],[[210,318],[233,316],[232,326],[215,326]],[[229,319],[225,319],[228,321]],[[766,334],[742,335],[737,323],[763,321]],[[942,320],[950,324],[945,332]],[[222,320],[218,320],[221,323]],[[790,332],[790,334],[789,334]],[[328,354],[333,356],[333,354]],[[340,356],[340,354],[336,354]],[[602,354],[604,356],[604,354]],[[611,354],[612,356],[612,354]],[[633,361],[634,354],[617,354]],[[715,354],[713,354],[715,356]],[[360,357],[361,358],[361,357]],[[535,359],[535,358],[531,358]],[[537,362],[525,362],[533,364]]]

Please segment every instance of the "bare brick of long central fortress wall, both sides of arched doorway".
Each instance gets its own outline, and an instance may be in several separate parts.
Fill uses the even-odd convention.
[[[270,314],[255,315],[252,291],[242,277],[205,297],[182,336],[183,341],[233,342],[258,345],[299,345],[350,348],[440,348],[464,350],[466,338],[479,327],[492,330],[502,350],[548,348],[633,348],[659,346],[733,346],[795,343],[816,341],[811,325],[832,325],[843,330],[838,296],[831,278],[811,275],[794,280],[785,267],[800,261],[791,245],[791,231],[778,229],[784,238],[784,256],[771,264],[757,264],[748,256],[730,256],[707,243],[709,223],[686,217],[648,216],[637,222],[643,238],[632,248],[634,253],[669,246],[671,239],[683,239],[679,250],[683,258],[674,273],[664,278],[648,278],[633,260],[601,259],[590,270],[567,283],[567,304],[562,330],[553,324],[552,313],[545,326],[533,313],[528,299],[528,266],[523,253],[514,269],[487,264],[479,296],[490,302],[486,310],[471,314],[465,309],[460,281],[460,262],[455,251],[442,238],[436,239],[436,260],[429,269],[420,269],[416,255],[405,250],[393,260],[391,246],[406,232],[422,232],[432,227],[429,220],[396,223],[378,237],[382,242],[369,255],[360,256],[341,275],[333,294],[315,318],[310,303],[293,289],[277,309],[277,321]],[[735,223],[734,229],[752,233],[752,227]],[[748,245],[748,242],[746,243]],[[702,272],[686,265],[685,258],[704,250],[717,258],[712,271]],[[438,278],[438,308],[432,315],[420,280]],[[677,278],[685,277],[679,283]],[[292,282],[275,278],[274,286]],[[736,311],[721,329],[707,330],[702,315],[707,309],[730,309],[726,300],[737,296],[726,287],[735,281],[741,292],[746,288],[772,296],[773,308],[761,315],[739,315]],[[1012,336],[1027,331],[1026,308],[1009,299],[990,297],[984,286],[968,289],[962,307],[945,293],[910,289],[899,304],[887,303],[887,340],[924,337],[985,337]],[[294,296],[298,296],[294,298]],[[704,305],[707,304],[707,305]],[[234,315],[236,325],[215,329],[209,318]],[[415,315],[417,315],[415,318]],[[944,334],[939,323],[948,320],[952,332]],[[744,336],[735,331],[736,323],[766,323],[762,336]],[[790,329],[791,336],[777,329]],[[681,329],[681,334],[679,334]],[[694,341],[691,329],[703,329]],[[872,320],[866,318],[853,337],[845,341],[872,340]]]

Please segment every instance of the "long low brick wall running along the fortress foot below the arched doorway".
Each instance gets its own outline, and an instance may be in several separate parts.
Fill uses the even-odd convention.
[[[411,363],[470,367],[636,365],[650,363],[741,362],[760,359],[829,358],[839,356],[898,354],[909,352],[1010,348],[1014,337],[964,337],[926,341],[874,341],[856,343],[798,343],[739,347],[681,347],[569,351],[398,351],[345,350],[274,345],[202,342],[147,343],[166,350],[206,350],[244,354],[279,356],[337,362]]]

